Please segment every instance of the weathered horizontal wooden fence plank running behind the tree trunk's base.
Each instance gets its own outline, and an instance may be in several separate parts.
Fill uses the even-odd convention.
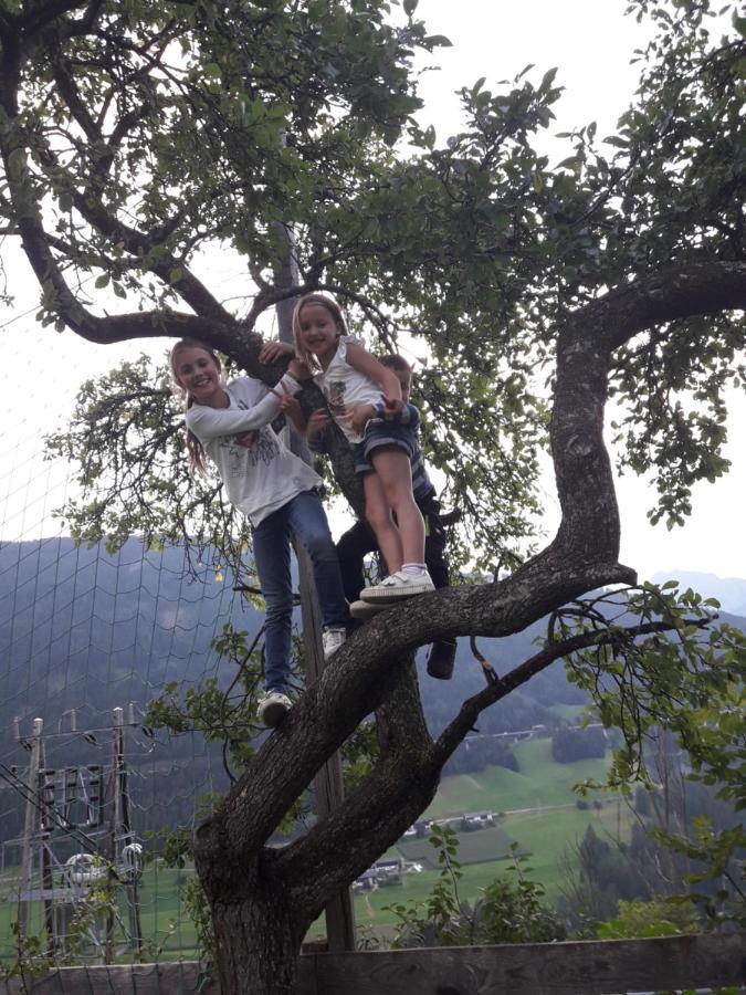
[[[193,962],[64,967],[3,995],[187,995]],[[304,954],[295,995],[621,995],[746,985],[746,934]],[[219,995],[217,981],[200,988]]]

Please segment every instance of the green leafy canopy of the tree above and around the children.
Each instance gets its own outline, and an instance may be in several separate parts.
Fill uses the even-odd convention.
[[[97,342],[198,334],[254,374],[256,322],[288,294],[276,276],[291,224],[300,289],[336,293],[374,346],[411,331],[427,344],[416,399],[428,452],[466,512],[469,546],[509,566],[535,527],[547,427],[536,374],[558,329],[659,268],[743,260],[743,19],[702,0],[631,4],[658,29],[637,55],[635,103],[616,135],[589,123],[551,157],[534,139],[560,100],[556,70],[464,86],[463,127],[444,144],[418,124],[413,55],[448,40],[414,7],[7,7],[0,212],[39,276],[42,322]],[[225,249],[245,272],[230,305],[210,286]],[[651,515],[669,524],[695,481],[727,469],[723,392],[746,383],[742,318],[710,310],[620,343],[611,369],[620,465],[653,469]],[[90,488],[106,486],[96,452],[118,452],[105,507],[66,509],[85,538],[174,538],[167,506],[189,516],[206,496],[176,500],[187,480],[176,441],[174,461],[162,443],[177,413],[165,396],[130,398],[137,376],[155,380],[134,370],[86,385],[66,446],[52,443],[91,448]],[[144,415],[130,409],[119,430],[104,390]],[[158,470],[135,482],[127,453],[139,460],[148,440]],[[150,491],[168,500],[144,501]]]

